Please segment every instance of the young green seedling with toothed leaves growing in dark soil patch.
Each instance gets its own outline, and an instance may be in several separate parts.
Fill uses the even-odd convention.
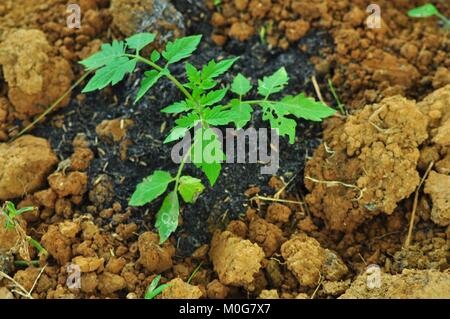
[[[211,60],[201,69],[186,62],[187,81],[175,78],[169,66],[189,58],[197,49],[201,35],[188,36],[169,42],[161,53],[154,50],[150,57],[140,53],[144,47],[152,43],[155,35],[151,33],[136,34],[125,41],[113,41],[103,44],[101,51],[80,63],[87,71],[95,71],[83,92],[101,90],[108,85],[122,81],[127,73],[132,73],[138,62],[146,64],[146,71],[140,89],[135,98],[138,102],[162,77],[169,79],[184,95],[184,99],[176,101],[161,110],[163,113],[176,114],[175,127],[172,128],[164,143],[180,140],[194,130],[193,142],[180,163],[175,176],[170,172],[157,170],[140,183],[129,202],[130,206],[144,206],[166,193],[169,185],[171,191],[163,200],[156,215],[156,227],[159,230],[161,243],[165,242],[178,226],[179,195],[186,203],[194,203],[204,191],[202,181],[192,176],[183,175],[183,168],[189,161],[203,171],[211,186],[220,175],[225,155],[221,142],[214,128],[229,126],[244,128],[251,120],[256,106],[262,109],[263,120],[268,121],[281,136],[287,136],[289,142],[295,142],[297,122],[295,118],[321,121],[335,113],[335,110],[323,103],[306,97],[303,93],[285,96],[281,100],[274,99],[280,94],[289,81],[285,68],[280,68],[273,75],[258,81],[257,93],[260,99],[245,100],[253,85],[244,75],[238,74],[231,87],[219,87],[219,78],[225,74],[238,58],[225,59],[220,62]],[[132,52],[129,52],[132,51]],[[226,97],[228,103],[224,103]]]

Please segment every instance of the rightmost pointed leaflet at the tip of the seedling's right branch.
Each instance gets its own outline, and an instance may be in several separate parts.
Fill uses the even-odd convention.
[[[286,96],[280,102],[274,102],[273,108],[281,109],[298,118],[317,122],[336,113],[336,110],[313,98],[306,97],[303,93],[297,96]]]

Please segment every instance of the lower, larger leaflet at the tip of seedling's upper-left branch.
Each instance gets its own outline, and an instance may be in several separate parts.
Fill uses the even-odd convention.
[[[101,90],[109,84],[115,85],[122,81],[125,74],[131,73],[136,68],[136,59],[119,57],[95,72],[95,75],[88,82],[82,93]]]

